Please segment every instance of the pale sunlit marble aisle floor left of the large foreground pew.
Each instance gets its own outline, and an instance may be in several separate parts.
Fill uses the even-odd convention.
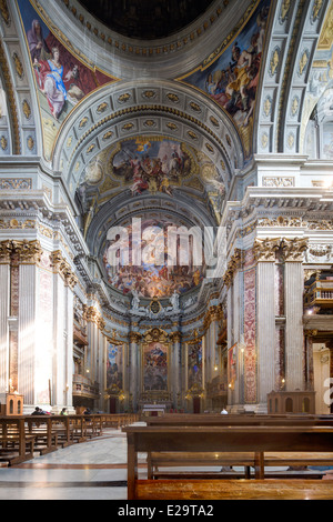
[[[142,479],[147,478],[145,459],[145,454],[139,454]],[[98,439],[43,456],[37,454],[17,466],[0,468],[0,500],[125,501],[125,434],[105,429]]]

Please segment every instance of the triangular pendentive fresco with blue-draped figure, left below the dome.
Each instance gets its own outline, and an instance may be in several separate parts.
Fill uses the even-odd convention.
[[[92,91],[115,79],[85,64],[83,57],[69,50],[70,42],[61,43],[30,1],[18,0],[18,6],[38,89],[44,155],[50,160],[60,126],[70,112]]]

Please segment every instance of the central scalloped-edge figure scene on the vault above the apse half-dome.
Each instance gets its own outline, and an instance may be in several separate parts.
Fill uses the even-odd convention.
[[[189,153],[178,141],[144,137],[122,142],[112,159],[113,174],[130,183],[132,195],[172,195],[173,187],[191,174],[191,167]]]

